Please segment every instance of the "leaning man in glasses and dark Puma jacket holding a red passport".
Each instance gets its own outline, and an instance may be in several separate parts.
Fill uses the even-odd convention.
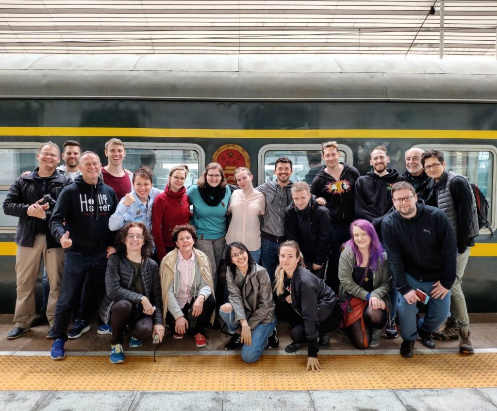
[[[425,347],[435,347],[431,333],[448,317],[457,246],[446,214],[418,200],[412,184],[395,183],[392,201],[396,211],[383,219],[381,232],[399,292],[400,353],[411,358],[417,337]],[[416,321],[423,293],[429,297],[426,314]]]

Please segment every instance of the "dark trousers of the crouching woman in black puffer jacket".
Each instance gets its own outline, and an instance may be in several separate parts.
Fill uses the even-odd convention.
[[[152,337],[152,316],[144,314],[141,307],[141,304],[133,306],[128,300],[118,300],[112,304],[109,322],[112,328],[112,345],[123,343],[127,325],[131,327],[131,335],[140,341]]]

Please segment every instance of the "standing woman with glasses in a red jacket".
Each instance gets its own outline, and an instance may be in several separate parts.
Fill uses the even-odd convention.
[[[169,251],[176,247],[171,238],[174,226],[188,224],[190,221],[190,203],[184,187],[187,174],[188,166],[186,164],[172,167],[166,189],[154,201],[152,234],[159,263]]]

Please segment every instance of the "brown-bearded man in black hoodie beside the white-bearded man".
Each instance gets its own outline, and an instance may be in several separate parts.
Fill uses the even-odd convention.
[[[355,214],[357,218],[373,221],[388,213],[392,207],[392,185],[404,181],[395,168],[387,168],[390,163],[385,146],[378,146],[371,152],[369,164],[373,168],[355,182]]]

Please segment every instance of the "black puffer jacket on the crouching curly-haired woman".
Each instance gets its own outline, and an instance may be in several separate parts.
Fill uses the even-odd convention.
[[[128,300],[141,311],[142,306],[140,300],[145,295],[150,303],[156,307],[156,311],[152,315],[154,325],[162,325],[161,278],[159,277],[159,266],[151,258],[143,260],[143,264],[140,268],[140,280],[145,294],[139,294],[133,291],[134,274],[135,267],[126,260],[124,255],[118,253],[110,255],[107,260],[107,270],[105,271],[105,296],[98,309],[98,315],[105,324],[108,324],[112,304],[118,300]]]

